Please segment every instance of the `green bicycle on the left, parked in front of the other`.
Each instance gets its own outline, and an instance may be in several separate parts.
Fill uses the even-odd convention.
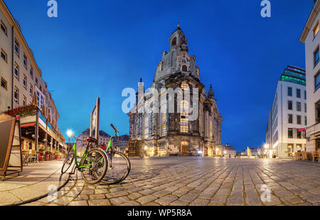
[[[74,152],[70,153],[68,157],[65,158],[61,172],[67,172],[74,161],[75,168],[71,173],[74,174],[75,169],[78,168],[78,171],[81,172],[81,176],[85,182],[89,184],[96,184],[105,177],[105,173],[107,172],[107,156],[102,149],[96,148],[95,138],[90,137],[87,138],[86,141],[87,146],[82,154],[80,163],[78,163],[77,146],[74,144]]]

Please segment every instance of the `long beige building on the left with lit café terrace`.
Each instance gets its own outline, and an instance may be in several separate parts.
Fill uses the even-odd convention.
[[[65,153],[55,102],[18,21],[3,0],[0,0],[0,50],[0,113],[11,110],[12,114],[13,109],[36,106],[33,113],[21,115],[23,150],[43,148]]]

